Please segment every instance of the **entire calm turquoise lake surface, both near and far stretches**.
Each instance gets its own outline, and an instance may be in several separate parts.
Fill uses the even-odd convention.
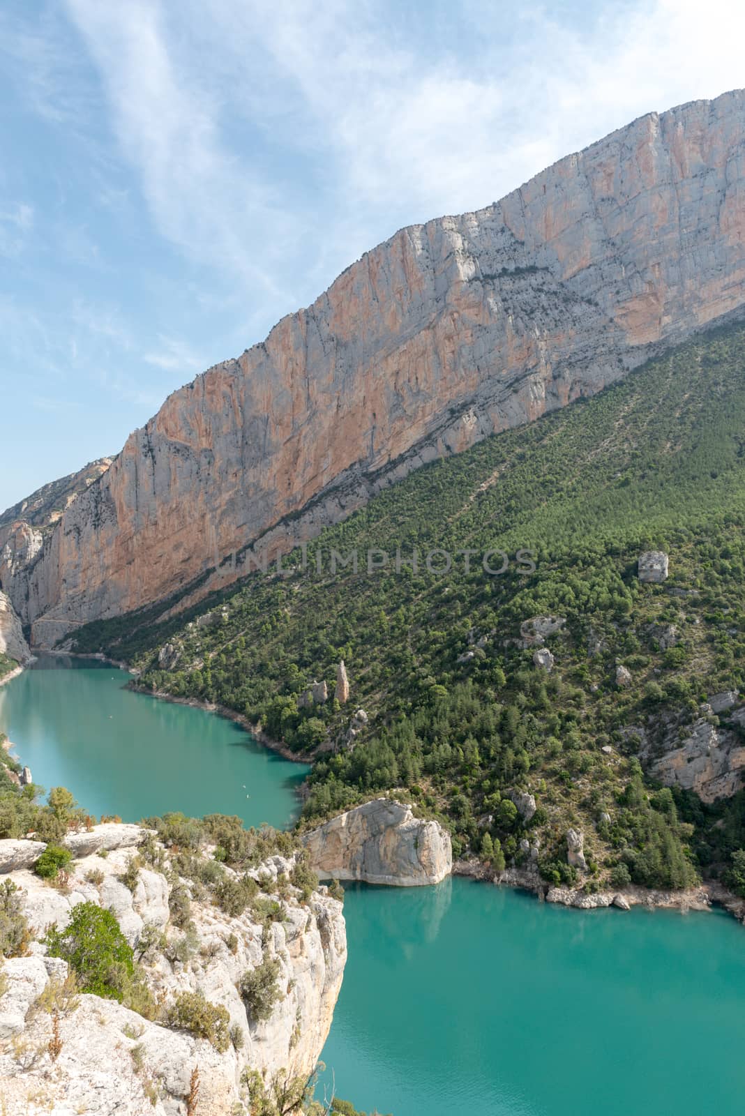
[[[35,779],[126,820],[287,825],[306,769],[230,721],[46,658],[0,687]],[[245,783],[245,790],[243,785]],[[250,798],[245,796],[250,795]],[[466,879],[350,885],[322,1058],[394,1116],[734,1116],[745,1109],[745,931],[724,914],[567,911]]]

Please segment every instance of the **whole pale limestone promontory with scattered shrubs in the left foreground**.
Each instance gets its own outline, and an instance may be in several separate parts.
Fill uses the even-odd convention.
[[[20,866],[42,844],[0,840],[8,917],[20,912],[29,939],[0,960],[3,1116],[258,1112],[262,1089],[304,1083],[316,1067],[347,956],[341,903],[301,879],[300,850],[239,873],[217,865],[209,846],[185,857],[135,828],[79,835],[76,859],[52,882]],[[215,873],[211,895],[204,881]],[[238,903],[243,893],[253,897]],[[75,961],[49,955],[45,931],[66,927],[80,904],[116,918],[147,1010],[70,987]],[[180,1003],[191,1013],[174,1017]],[[210,1019],[222,1041],[205,1029]]]

